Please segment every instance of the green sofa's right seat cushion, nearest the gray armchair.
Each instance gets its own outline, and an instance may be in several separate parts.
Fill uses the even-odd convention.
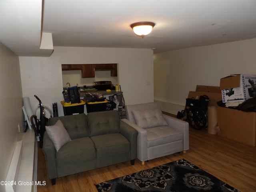
[[[98,158],[130,152],[130,142],[120,133],[93,136],[91,139]]]

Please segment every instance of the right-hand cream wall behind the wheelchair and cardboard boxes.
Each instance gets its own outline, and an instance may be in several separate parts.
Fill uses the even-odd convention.
[[[154,99],[176,114],[196,85],[220,86],[230,74],[256,74],[255,50],[256,39],[249,39],[154,54]]]

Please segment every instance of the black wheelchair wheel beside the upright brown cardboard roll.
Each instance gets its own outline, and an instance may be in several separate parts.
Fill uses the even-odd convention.
[[[206,128],[207,118],[204,111],[199,107],[193,107],[191,110],[192,110],[192,118],[194,121],[193,128],[198,130]]]

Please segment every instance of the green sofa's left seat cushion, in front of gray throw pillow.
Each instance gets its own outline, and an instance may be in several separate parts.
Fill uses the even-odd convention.
[[[56,153],[57,166],[96,159],[94,143],[89,137],[74,139]]]

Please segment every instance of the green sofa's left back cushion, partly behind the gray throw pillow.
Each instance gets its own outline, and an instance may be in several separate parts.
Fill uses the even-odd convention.
[[[49,118],[49,125],[54,125],[58,120],[61,120],[71,139],[90,136],[84,113]]]

